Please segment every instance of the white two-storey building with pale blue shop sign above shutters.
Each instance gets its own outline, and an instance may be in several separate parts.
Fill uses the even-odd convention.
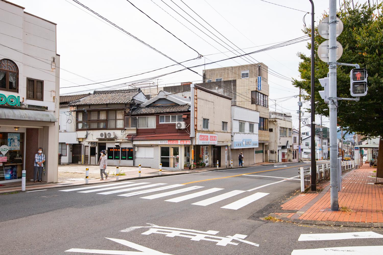
[[[231,106],[231,159],[238,165],[238,155],[243,153],[246,166],[263,162],[263,151],[259,149],[259,112],[240,106]]]

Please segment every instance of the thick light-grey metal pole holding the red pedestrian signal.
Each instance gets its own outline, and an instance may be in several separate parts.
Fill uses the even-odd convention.
[[[336,0],[329,0],[329,110],[330,110],[330,188],[331,210],[338,211],[339,169],[336,153],[337,140],[337,41]]]

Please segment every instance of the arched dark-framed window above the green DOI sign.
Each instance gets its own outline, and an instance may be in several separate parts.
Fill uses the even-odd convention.
[[[19,91],[19,71],[15,62],[0,60],[0,90]]]

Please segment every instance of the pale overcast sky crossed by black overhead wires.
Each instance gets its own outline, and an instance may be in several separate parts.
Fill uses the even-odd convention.
[[[301,31],[304,28],[304,11],[311,11],[311,5],[308,0],[268,0],[268,2],[298,10],[273,5],[261,0],[183,0],[186,5],[181,0],[163,0],[179,14],[165,5],[162,0],[130,1],[187,45],[178,41],[178,39],[166,32],[158,24],[155,24],[126,0],[79,0],[83,5],[88,6],[125,31],[178,62],[196,58],[198,56],[197,52],[205,56],[201,59],[185,62],[185,66],[199,65],[235,55],[235,53],[227,52],[228,49],[232,49],[211,33],[213,32],[216,36],[230,44],[214,29],[239,48],[244,49],[245,52],[251,52],[268,47],[269,45],[267,44],[304,36]],[[61,71],[60,94],[87,93],[87,90],[105,89],[108,86],[150,78],[155,75],[182,69],[180,66],[174,66],[132,78],[79,87],[77,85],[122,78],[172,65],[175,62],[136,41],[136,39],[119,31],[110,24],[106,24],[105,21],[101,21],[98,17],[96,18],[94,14],[91,15],[90,11],[85,10],[85,8],[72,0],[11,0],[11,2],[25,7],[26,12],[57,23],[57,54],[61,55],[61,68],[77,74],[74,75],[64,70]],[[193,13],[187,5],[214,29]],[[319,22],[322,13],[328,11],[329,1],[314,0],[314,5],[315,20]],[[211,32],[203,28],[183,10]],[[217,42],[198,30],[198,28],[183,17]],[[306,15],[305,21],[307,25],[311,23],[310,14]],[[228,49],[225,49],[218,42]],[[251,57],[257,60],[257,62],[263,62],[269,69],[283,76],[299,79],[298,63],[300,59],[297,57],[297,53],[304,52],[308,55],[309,50],[306,49],[306,44],[307,42],[300,42],[266,52],[255,53]],[[234,45],[231,46],[235,47]],[[249,47],[252,48],[245,49]],[[221,52],[226,53],[223,54]],[[248,58],[256,62],[254,59]],[[248,64],[246,59],[235,58],[234,60],[206,65],[206,69],[244,64]],[[171,86],[171,83],[178,85],[180,82],[200,81],[203,69],[203,66],[193,69],[200,75],[190,70],[185,70],[163,76],[159,78],[158,83],[160,86],[163,84]],[[288,100],[285,99],[286,97],[298,95],[299,90],[291,85],[291,81],[278,78],[270,73],[268,78],[270,85],[269,98],[277,100],[277,106],[275,106],[275,101],[269,101],[270,109],[274,110],[276,108],[279,111],[291,112],[293,127],[298,128],[298,114],[296,113],[298,110],[298,99],[294,97]],[[157,83],[157,80],[153,80],[153,82]],[[70,86],[77,87],[65,88]],[[126,88],[126,86],[116,86],[115,88]],[[309,107],[309,104],[304,102],[303,106]],[[309,118],[309,113],[305,113],[304,117]],[[319,122],[320,120],[317,117],[316,123]],[[323,118],[323,123],[328,126],[328,119]]]

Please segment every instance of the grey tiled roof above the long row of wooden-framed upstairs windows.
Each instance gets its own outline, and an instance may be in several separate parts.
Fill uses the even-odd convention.
[[[139,89],[94,91],[93,94],[71,102],[70,106],[82,104],[127,104],[140,92]]]

